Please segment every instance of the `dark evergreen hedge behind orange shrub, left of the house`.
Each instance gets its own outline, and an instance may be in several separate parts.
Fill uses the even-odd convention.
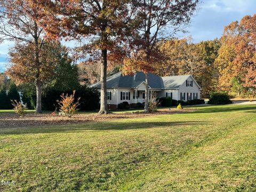
[[[58,106],[57,100],[60,100],[60,95],[64,94],[73,94],[73,91],[57,91],[57,90],[49,90],[46,94],[42,95],[42,109],[48,111],[54,111]],[[75,100],[81,98],[79,100],[79,109],[80,110],[95,110],[100,107],[100,93],[97,89],[80,86],[76,90]],[[22,98],[23,99],[23,98]]]

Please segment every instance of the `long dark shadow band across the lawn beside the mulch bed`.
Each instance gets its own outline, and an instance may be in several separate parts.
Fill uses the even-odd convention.
[[[3,128],[2,134],[33,134],[33,133],[73,133],[83,131],[110,131],[110,130],[137,130],[159,127],[204,125],[204,121],[181,121],[181,122],[95,122],[73,125],[52,125],[51,127],[37,126],[24,128]]]

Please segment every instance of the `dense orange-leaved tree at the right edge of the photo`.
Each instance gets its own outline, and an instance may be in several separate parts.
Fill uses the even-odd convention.
[[[215,61],[220,74],[220,89],[230,92],[235,83],[235,90],[241,90],[237,89],[238,83],[256,94],[255,25],[256,14],[246,15],[240,22],[231,22],[225,27],[219,57]]]

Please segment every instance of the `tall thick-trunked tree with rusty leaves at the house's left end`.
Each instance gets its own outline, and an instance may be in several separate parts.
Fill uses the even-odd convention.
[[[35,5],[38,2],[34,0]],[[41,1],[41,25],[51,38],[65,37],[84,43],[83,57],[101,60],[101,105],[99,113],[107,114],[108,58],[122,55],[118,49],[126,35],[132,33],[134,9],[128,0]]]

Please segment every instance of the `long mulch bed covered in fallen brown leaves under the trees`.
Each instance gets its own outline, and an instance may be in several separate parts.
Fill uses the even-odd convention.
[[[71,118],[65,116],[54,115],[51,113],[35,114],[27,113],[23,117],[18,117],[14,113],[0,113],[0,128],[6,127],[27,127],[38,125],[54,125],[54,124],[77,124],[91,121],[109,121],[122,118],[140,118],[161,114],[177,114],[188,113],[196,109],[158,109],[155,113],[145,114],[143,111],[135,111],[131,113],[110,113],[108,115],[100,114],[76,114]]]

